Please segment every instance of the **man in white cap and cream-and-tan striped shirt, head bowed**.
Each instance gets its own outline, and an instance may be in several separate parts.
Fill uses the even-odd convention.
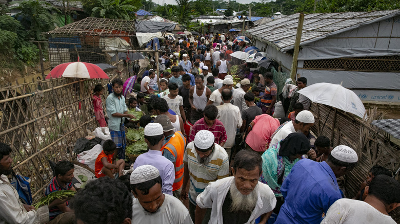
[[[208,183],[229,176],[228,154],[223,147],[214,143],[214,135],[211,131],[200,130],[196,133],[194,141],[186,147],[184,164],[181,198],[189,198],[190,216],[193,222],[195,220],[201,222],[206,210],[197,206],[197,195],[204,191]]]

